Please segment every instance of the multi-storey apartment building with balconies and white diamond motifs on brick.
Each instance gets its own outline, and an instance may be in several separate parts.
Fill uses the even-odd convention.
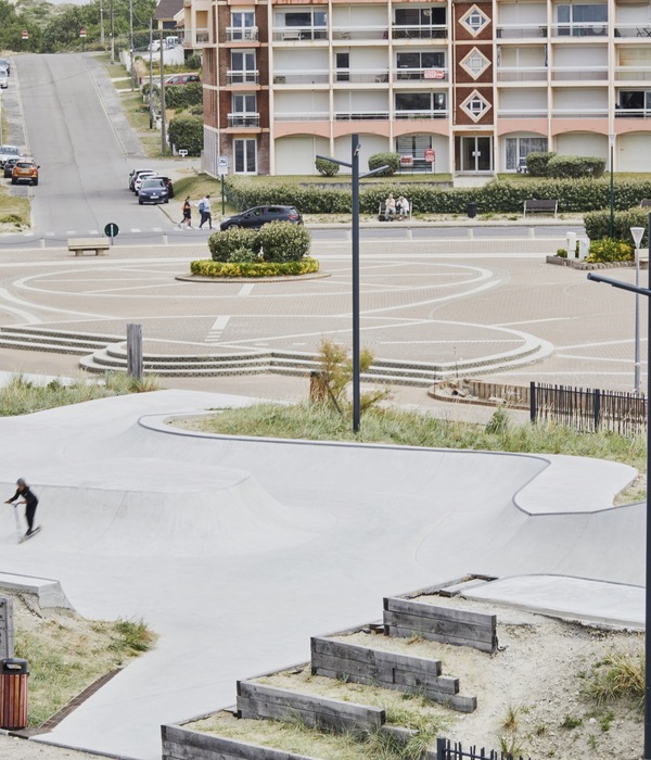
[[[315,174],[317,154],[514,172],[529,151],[651,170],[648,0],[186,0],[203,13],[204,159]]]

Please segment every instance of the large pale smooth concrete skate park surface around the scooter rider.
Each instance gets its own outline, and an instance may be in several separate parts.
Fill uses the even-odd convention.
[[[613,607],[643,584],[643,505],[612,506],[629,467],[166,425],[248,403],[161,391],[0,419],[5,498],[25,478],[43,527],[18,545],[2,505],[0,572],[159,634],[41,740],[158,758],[162,723],[232,705],[238,679],[306,661],[311,635],[380,619],[384,596],[469,572],[609,582]]]

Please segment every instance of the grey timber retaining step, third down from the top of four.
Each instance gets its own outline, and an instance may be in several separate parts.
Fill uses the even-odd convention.
[[[337,733],[367,734],[380,731],[386,721],[384,710],[379,707],[326,699],[253,681],[238,681],[238,714],[253,719],[299,718],[307,725]]]

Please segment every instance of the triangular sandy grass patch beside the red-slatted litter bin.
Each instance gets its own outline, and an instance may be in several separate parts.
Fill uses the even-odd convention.
[[[98,679],[151,648],[139,621],[97,621],[69,610],[42,611],[36,596],[14,596],[15,657],[29,663],[28,727],[36,729]],[[135,633],[136,632],[136,633]]]

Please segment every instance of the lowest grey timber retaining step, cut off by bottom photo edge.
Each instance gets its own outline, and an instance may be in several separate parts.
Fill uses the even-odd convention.
[[[162,760],[318,760],[177,725],[161,726],[161,736]]]

